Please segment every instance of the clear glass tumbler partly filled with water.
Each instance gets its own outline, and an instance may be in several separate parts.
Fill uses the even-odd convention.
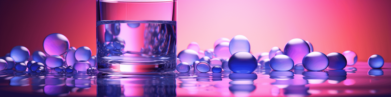
[[[176,0],[97,0],[97,68],[106,73],[176,69]]]

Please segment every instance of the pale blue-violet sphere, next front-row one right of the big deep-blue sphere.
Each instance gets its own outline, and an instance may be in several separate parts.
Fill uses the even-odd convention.
[[[289,71],[293,68],[294,62],[287,55],[276,55],[270,59],[269,65],[275,71]]]

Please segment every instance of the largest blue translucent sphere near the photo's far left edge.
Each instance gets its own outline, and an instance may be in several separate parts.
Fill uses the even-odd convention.
[[[23,46],[15,46],[12,48],[10,55],[15,62],[24,62],[27,61],[30,57],[30,51]]]

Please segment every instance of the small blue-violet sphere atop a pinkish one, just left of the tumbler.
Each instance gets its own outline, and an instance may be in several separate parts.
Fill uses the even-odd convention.
[[[88,61],[91,57],[91,49],[88,47],[79,47],[75,51],[75,58],[77,61]]]

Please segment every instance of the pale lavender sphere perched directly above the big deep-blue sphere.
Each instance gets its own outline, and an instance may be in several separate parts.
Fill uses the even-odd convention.
[[[236,35],[230,41],[230,52],[235,54],[237,52],[250,52],[250,42],[243,35]]]

